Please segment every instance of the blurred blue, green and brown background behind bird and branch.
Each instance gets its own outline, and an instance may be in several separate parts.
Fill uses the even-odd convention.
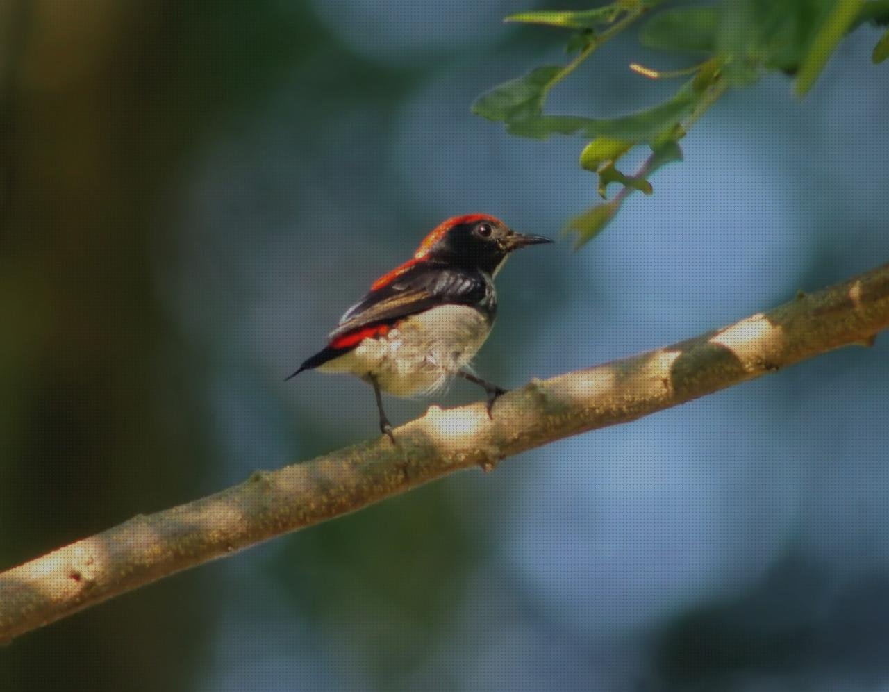
[[[525,7],[0,8],[0,567],[376,434],[361,382],[283,382],[342,310],[446,216],[557,237],[595,202],[580,140],[469,114],[564,60],[560,33],[501,23]],[[777,76],[729,94],[580,252],[513,258],[479,372],[517,386],[885,262],[877,36],[840,44],[801,102]],[[550,109],[654,103],[674,85],[627,65],[663,60],[621,36]],[[177,575],[0,649],[0,687],[889,690],[887,353]],[[387,406],[404,422],[428,402]]]

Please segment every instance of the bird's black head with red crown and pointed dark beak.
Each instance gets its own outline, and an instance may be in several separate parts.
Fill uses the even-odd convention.
[[[414,260],[446,262],[492,276],[509,253],[526,245],[551,243],[548,237],[528,236],[484,213],[454,216],[440,223],[417,248]]]

